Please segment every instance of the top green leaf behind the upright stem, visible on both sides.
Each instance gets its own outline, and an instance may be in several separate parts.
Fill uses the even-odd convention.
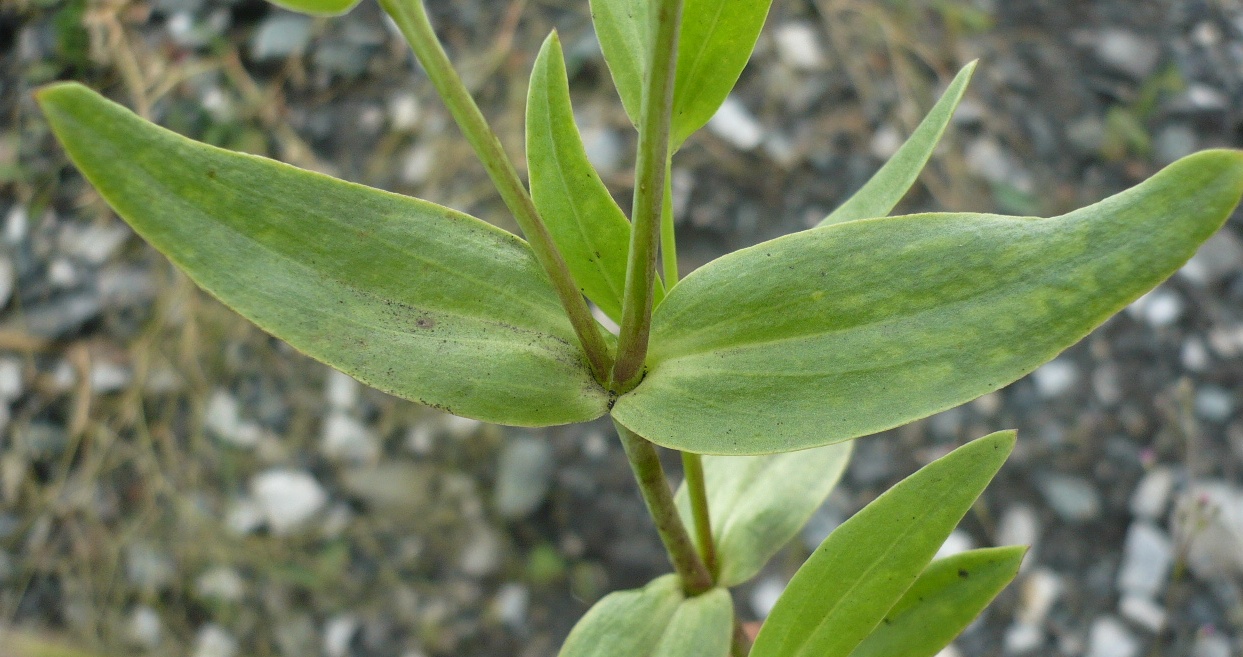
[[[622,104],[638,123],[651,61],[653,0],[592,0],[592,21]],[[756,48],[772,0],[686,0],[677,36],[670,148],[725,102]]]

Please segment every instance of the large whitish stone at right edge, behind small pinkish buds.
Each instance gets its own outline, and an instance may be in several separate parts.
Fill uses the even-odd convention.
[[[1175,503],[1173,533],[1196,576],[1243,574],[1243,488],[1219,479],[1188,487]]]

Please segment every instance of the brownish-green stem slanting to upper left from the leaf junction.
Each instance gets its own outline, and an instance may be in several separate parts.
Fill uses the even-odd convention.
[[[531,194],[527,193],[526,185],[518,178],[513,163],[505,154],[501,140],[487,124],[484,113],[480,112],[475,99],[466,89],[466,84],[462,83],[452,62],[449,61],[449,55],[445,53],[440,40],[436,39],[423,0],[379,0],[379,2],[401,30],[401,35],[410,43],[414,55],[419,58],[419,63],[423,65],[445,106],[449,107],[457,127],[470,142],[471,148],[475,149],[484,169],[487,170],[492,184],[501,194],[501,200],[513,212],[513,219],[522,229],[523,236],[531,245],[531,251],[534,252],[536,260],[548,273],[548,278],[569,315],[569,322],[583,345],[592,373],[598,381],[604,383],[612,363],[604,337],[600,334],[600,327],[587,308],[583,293],[569,274],[566,260],[557,251],[552,235],[548,233],[543,220],[539,219]]]

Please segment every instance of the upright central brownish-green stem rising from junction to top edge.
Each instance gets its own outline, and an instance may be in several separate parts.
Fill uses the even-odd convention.
[[[634,168],[634,210],[625,291],[622,296],[622,330],[618,359],[613,365],[613,390],[626,392],[643,379],[651,328],[651,288],[656,276],[656,247],[660,243],[660,211],[664,201],[665,168],[669,163],[669,127],[674,106],[674,77],[677,72],[677,32],[682,0],[653,2],[655,39],[648,71],[643,109],[639,117],[639,153]]]

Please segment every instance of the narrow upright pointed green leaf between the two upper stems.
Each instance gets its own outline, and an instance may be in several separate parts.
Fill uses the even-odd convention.
[[[539,48],[527,97],[531,196],[583,293],[622,320],[630,222],[587,159],[556,32]],[[656,303],[664,288],[656,286]]]

